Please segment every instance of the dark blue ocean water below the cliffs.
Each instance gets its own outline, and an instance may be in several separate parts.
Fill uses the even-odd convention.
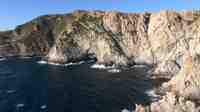
[[[147,91],[155,81],[148,78],[148,67],[97,68],[92,61],[53,65],[39,58],[2,59],[0,112],[121,112],[152,100]]]

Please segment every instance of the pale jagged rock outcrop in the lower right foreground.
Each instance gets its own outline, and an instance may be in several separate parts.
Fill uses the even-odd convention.
[[[167,93],[150,106],[137,106],[136,112],[199,112],[200,57],[187,54],[181,71],[163,84]]]

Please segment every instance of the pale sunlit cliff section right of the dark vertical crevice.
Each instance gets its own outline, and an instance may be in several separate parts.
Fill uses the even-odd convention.
[[[192,56],[199,54],[199,16],[198,11],[162,11],[151,15],[148,37],[154,62],[158,65],[156,72],[173,71],[172,74],[176,74],[187,52]]]

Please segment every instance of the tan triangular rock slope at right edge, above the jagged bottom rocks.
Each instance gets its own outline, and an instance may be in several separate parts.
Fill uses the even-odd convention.
[[[191,100],[200,100],[200,58],[187,57],[180,72],[164,87],[170,91]]]

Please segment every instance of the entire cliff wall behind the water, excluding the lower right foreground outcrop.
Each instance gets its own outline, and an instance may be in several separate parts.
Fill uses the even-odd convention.
[[[147,63],[157,66],[155,73],[175,74],[187,52],[200,53],[199,26],[199,11],[75,11],[1,32],[0,55],[39,55],[61,63],[93,56],[98,63]]]

